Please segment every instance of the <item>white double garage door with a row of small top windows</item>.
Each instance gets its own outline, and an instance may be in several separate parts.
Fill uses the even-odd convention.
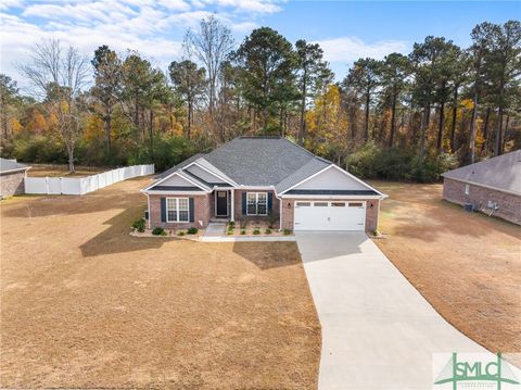
[[[295,230],[365,230],[366,202],[295,202]]]

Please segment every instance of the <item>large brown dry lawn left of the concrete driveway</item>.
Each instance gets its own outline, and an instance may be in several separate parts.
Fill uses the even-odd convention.
[[[130,237],[145,181],[2,203],[0,385],[316,388],[296,244]]]

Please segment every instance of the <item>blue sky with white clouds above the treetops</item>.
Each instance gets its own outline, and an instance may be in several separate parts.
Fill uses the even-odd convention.
[[[122,53],[136,49],[166,68],[180,58],[187,28],[213,13],[230,26],[238,45],[263,25],[292,42],[320,43],[340,79],[356,59],[407,53],[428,35],[467,47],[475,24],[519,20],[521,1],[2,0],[1,72],[23,86],[15,64],[49,37],[89,58],[103,43]]]

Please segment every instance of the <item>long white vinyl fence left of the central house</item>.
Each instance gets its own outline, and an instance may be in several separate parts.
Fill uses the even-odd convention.
[[[154,165],[151,164],[126,166],[86,177],[25,177],[25,193],[84,194],[154,172]]]

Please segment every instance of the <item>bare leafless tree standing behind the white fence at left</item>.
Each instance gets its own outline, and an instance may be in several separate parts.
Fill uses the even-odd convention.
[[[64,49],[59,39],[47,39],[35,45],[30,61],[18,70],[55,113],[67,151],[68,171],[74,173],[74,150],[82,134],[82,110],[78,104],[89,72],[87,59],[73,46]]]

